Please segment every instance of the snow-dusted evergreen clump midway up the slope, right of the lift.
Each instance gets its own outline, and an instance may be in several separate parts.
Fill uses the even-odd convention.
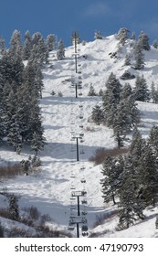
[[[104,123],[110,127],[118,147],[124,144],[126,135],[140,121],[136,95],[137,92],[132,91],[129,83],[122,87],[120,80],[111,73],[106,82],[106,91],[102,95],[102,106],[95,106],[92,110],[94,123]]]

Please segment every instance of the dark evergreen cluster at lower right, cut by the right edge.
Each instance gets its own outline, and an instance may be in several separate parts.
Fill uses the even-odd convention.
[[[138,219],[144,219],[143,210],[155,207],[158,196],[158,127],[153,126],[148,140],[135,129],[127,155],[107,157],[102,165],[100,180],[104,202],[116,204],[119,223],[129,228]]]

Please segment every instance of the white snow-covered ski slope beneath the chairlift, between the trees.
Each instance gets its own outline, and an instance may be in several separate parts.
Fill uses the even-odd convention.
[[[99,232],[99,236],[105,237],[157,237],[158,231],[155,229],[155,214],[157,208],[146,210],[146,221],[140,221],[130,229],[116,231],[117,217],[112,215],[97,228],[93,229],[97,216],[105,216],[111,210],[110,205],[103,204],[100,191],[100,170],[101,165],[94,166],[89,158],[94,155],[99,147],[113,148],[115,142],[111,129],[105,126],[97,126],[89,122],[92,107],[101,102],[101,98],[90,97],[90,85],[96,92],[105,89],[105,82],[111,72],[120,79],[125,70],[130,70],[132,74],[143,74],[147,80],[149,88],[154,81],[158,80],[158,50],[152,48],[145,52],[145,67],[142,71],[124,66],[125,54],[132,55],[132,40],[129,40],[119,51],[117,58],[111,58],[111,53],[119,48],[119,41],[115,36],[104,37],[102,40],[95,40],[85,46],[79,45],[78,65],[81,70],[82,95],[75,98],[75,92],[71,92],[70,80],[75,76],[74,48],[66,48],[66,58],[57,60],[56,52],[51,52],[49,64],[43,69],[44,91],[43,99],[40,102],[45,127],[47,144],[45,150],[40,154],[42,161],[42,171],[31,176],[17,176],[14,179],[5,180],[1,187],[7,187],[8,191],[20,195],[20,208],[36,206],[42,214],[49,214],[53,219],[52,225],[57,229],[68,229],[70,215],[70,187],[77,190],[82,189],[80,180],[84,176],[87,191],[88,211],[87,219],[90,232]],[[86,59],[84,57],[87,57]],[[125,81],[121,80],[124,84]],[[129,80],[134,85],[135,80]],[[51,91],[56,95],[52,96]],[[58,96],[62,92],[63,97]],[[79,106],[82,105],[82,110]],[[148,136],[153,123],[158,123],[158,105],[153,103],[139,102],[139,109],[142,112],[142,135]],[[79,155],[79,162],[76,161],[76,152],[72,149],[75,142],[71,141],[71,132],[79,132],[79,115],[82,113],[84,142],[79,144],[79,150],[84,149],[84,153]],[[1,147],[1,164],[5,162],[15,162],[27,159],[30,155],[28,150],[23,149],[21,155],[16,155],[11,147]],[[81,166],[85,167],[82,171]],[[73,180],[71,174],[76,176]],[[1,204],[4,204],[4,197],[0,197]],[[0,218],[2,223],[4,219]],[[75,235],[75,232],[74,232]]]

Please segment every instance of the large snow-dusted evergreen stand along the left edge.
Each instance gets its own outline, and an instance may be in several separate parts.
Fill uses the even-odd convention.
[[[24,144],[29,144],[36,154],[45,144],[39,108],[41,68],[47,63],[48,51],[55,48],[55,38],[49,35],[45,42],[39,32],[30,37],[26,31],[22,44],[21,34],[15,30],[10,48],[6,49],[4,40],[0,40],[0,143],[6,139],[18,154]]]

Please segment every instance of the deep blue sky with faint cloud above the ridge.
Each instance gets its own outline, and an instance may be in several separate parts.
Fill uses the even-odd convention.
[[[127,27],[139,36],[143,30],[151,43],[158,39],[157,0],[0,0],[0,35],[9,45],[15,29],[43,37],[55,34],[70,46],[75,30],[80,39],[91,41],[94,32],[110,36]]]

